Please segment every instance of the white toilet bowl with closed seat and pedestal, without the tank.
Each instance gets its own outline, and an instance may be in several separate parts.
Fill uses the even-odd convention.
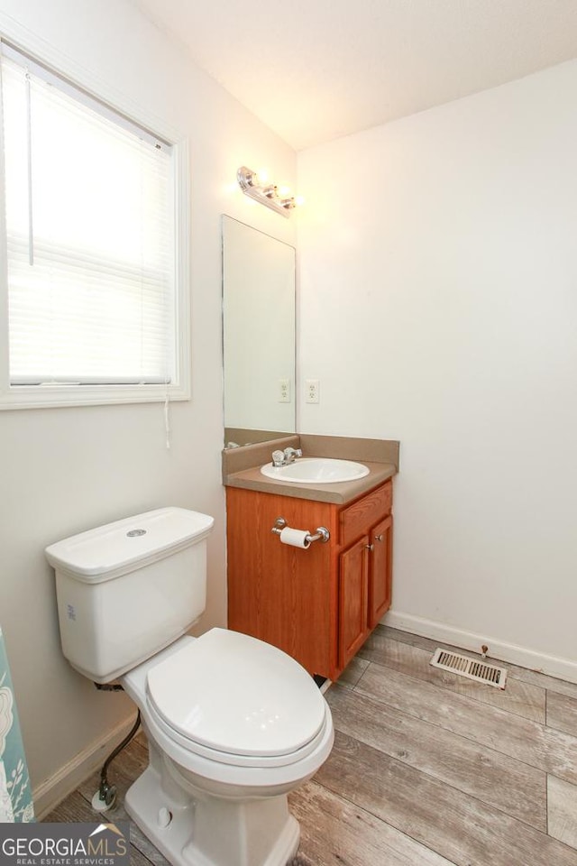
[[[328,757],[325,699],[280,650],[234,631],[184,637],[122,678],[150,765],[126,811],[169,861],[284,866],[299,829],[287,794]]]

